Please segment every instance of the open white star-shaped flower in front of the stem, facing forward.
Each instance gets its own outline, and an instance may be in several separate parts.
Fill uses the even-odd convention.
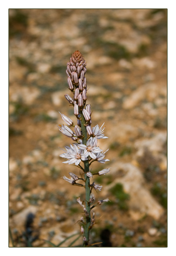
[[[85,157],[90,156],[93,159],[96,159],[95,153],[99,153],[102,150],[97,147],[97,138],[90,138],[87,140],[86,145],[84,144],[78,144],[78,147],[84,150]]]

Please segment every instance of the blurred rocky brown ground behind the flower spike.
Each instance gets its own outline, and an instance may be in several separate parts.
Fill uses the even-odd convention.
[[[75,120],[64,98],[67,62],[87,62],[92,126],[110,159],[92,165],[103,185],[91,242],[167,246],[167,9],[9,9],[9,246],[50,246],[77,233],[83,189],[61,177],[58,112]],[[71,94],[70,94],[71,95]],[[69,246],[75,237],[62,246]],[[82,244],[82,238],[74,245]],[[99,245],[101,246],[101,245]]]

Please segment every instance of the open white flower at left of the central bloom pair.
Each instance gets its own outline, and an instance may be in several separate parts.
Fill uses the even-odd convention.
[[[76,144],[70,145],[70,147],[65,146],[66,153],[60,155],[60,157],[67,158],[68,160],[63,163],[75,163],[75,165],[79,165],[81,161],[85,161],[88,158],[85,157],[85,154],[81,148],[78,148]]]

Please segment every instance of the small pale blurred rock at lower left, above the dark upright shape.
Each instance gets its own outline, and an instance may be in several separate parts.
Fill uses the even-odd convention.
[[[28,206],[23,211],[20,211],[19,213],[13,215],[12,217],[13,222],[15,223],[16,226],[24,224],[24,222],[26,221],[27,215],[29,213],[33,213],[35,215],[37,211],[38,211],[37,206]]]

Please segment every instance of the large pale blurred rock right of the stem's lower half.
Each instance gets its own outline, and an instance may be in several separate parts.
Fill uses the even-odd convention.
[[[144,187],[145,182],[140,169],[131,163],[116,163],[111,166],[112,174],[118,174],[120,170],[124,170],[124,175],[115,178],[111,184],[107,185],[104,188],[104,193],[107,193],[117,183],[121,183],[124,191],[130,195],[128,202],[130,210],[139,212],[139,218],[142,214],[147,214],[156,220],[159,219],[164,213],[164,209]],[[133,217],[133,215],[131,216]],[[134,218],[137,218],[137,214]]]

